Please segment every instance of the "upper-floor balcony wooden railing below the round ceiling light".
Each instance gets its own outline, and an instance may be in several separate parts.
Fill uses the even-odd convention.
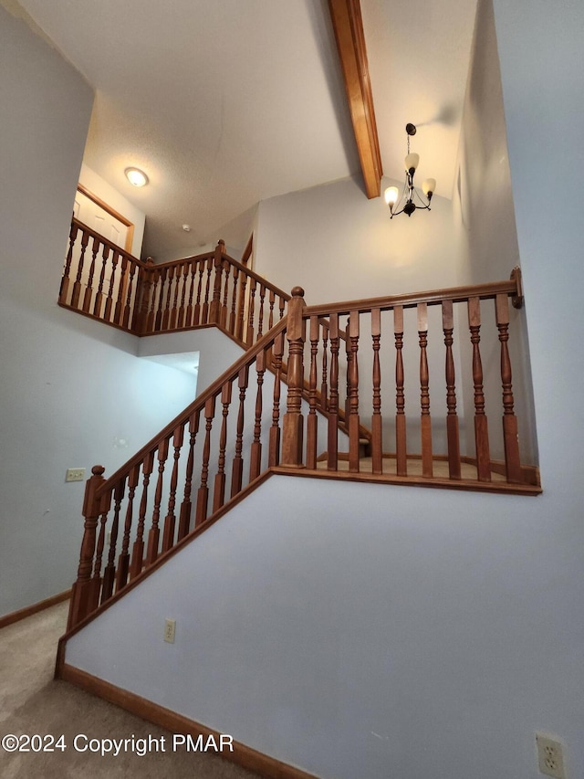
[[[290,296],[224,248],[155,265],[73,218],[58,303],[135,335],[215,325],[247,348],[282,319]]]

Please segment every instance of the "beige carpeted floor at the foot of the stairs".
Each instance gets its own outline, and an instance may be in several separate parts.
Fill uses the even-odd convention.
[[[65,681],[55,681],[57,639],[65,632],[68,604],[53,606],[0,630],[0,738],[7,734],[58,737],[64,751],[9,753],[0,748],[2,779],[254,779],[233,763],[210,753],[172,753],[172,733],[134,717],[117,706],[94,698]],[[78,734],[90,739],[165,737],[166,751],[120,752],[117,756],[78,752]],[[44,744],[48,746],[45,738]],[[43,742],[40,742],[43,743]],[[78,747],[87,745],[78,740]],[[22,742],[21,742],[22,744]],[[10,746],[10,740],[8,740]],[[55,745],[54,745],[55,748]]]

